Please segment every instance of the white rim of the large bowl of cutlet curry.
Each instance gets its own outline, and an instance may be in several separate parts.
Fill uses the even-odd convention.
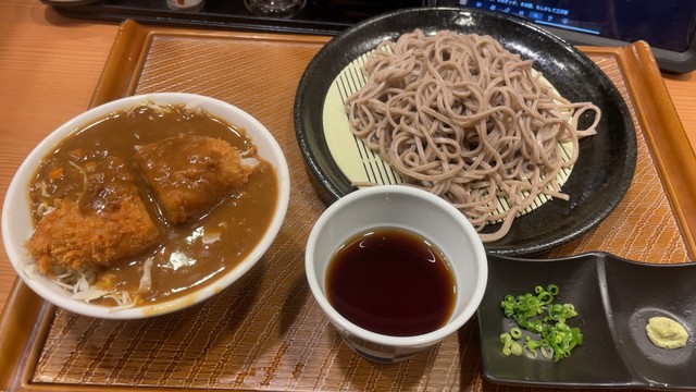
[[[90,121],[102,118],[108,113],[147,101],[171,105],[197,103],[206,111],[216,117],[223,117],[223,112],[234,113],[241,120],[233,122],[235,125],[247,130],[247,132],[250,127],[254,127],[257,131],[259,131],[259,133],[263,137],[263,144],[265,145],[265,147],[273,151],[272,154],[275,157],[278,157],[277,162],[273,162],[273,166],[276,170],[276,175],[278,177],[278,198],[275,206],[276,213],[269,224],[266,233],[243,262],[240,262],[233,270],[220,275],[217,279],[208,282],[207,284],[198,289],[195,293],[190,293],[183,297],[170,299],[162,303],[125,309],[114,309],[113,307],[90,304],[69,297],[55,298],[52,294],[51,289],[46,287],[45,284],[41,284],[39,281],[30,279],[30,277],[28,277],[23,270],[22,264],[25,262],[24,260],[26,258],[26,252],[24,250],[24,246],[22,244],[15,245],[16,241],[12,240],[10,235],[10,222],[12,220],[10,206],[14,205],[16,198],[18,197],[28,197],[24,192],[28,184],[20,179],[21,176],[23,176],[21,174],[25,174],[27,171],[30,171],[33,173],[36,169],[32,167],[32,162],[42,159],[63,137],[67,136],[71,132],[89,123]],[[251,137],[251,135],[249,136]],[[253,143],[257,146],[259,145],[258,139],[253,139]],[[256,118],[239,109],[238,107],[216,98],[190,93],[151,93],[124,97],[102,103],[74,117],[73,119],[69,120],[67,122],[63,123],[58,128],[52,131],[32,150],[32,152],[29,152],[29,155],[24,159],[24,161],[15,172],[15,175],[13,176],[10,186],[8,187],[2,210],[2,240],[4,242],[4,247],[10,258],[10,262],[14,267],[17,275],[20,275],[24,283],[27,284],[34,292],[58,307],[83,316],[98,317],[103,319],[138,319],[165,315],[169,313],[182,310],[212,297],[225,287],[233,284],[259,261],[259,259],[265,254],[268,248],[275,240],[277,233],[281,230],[281,226],[285,221],[285,216],[287,213],[289,204],[289,182],[290,175],[285,155],[283,154],[283,150],[281,149],[281,146],[273,134],[271,134],[271,132]]]

